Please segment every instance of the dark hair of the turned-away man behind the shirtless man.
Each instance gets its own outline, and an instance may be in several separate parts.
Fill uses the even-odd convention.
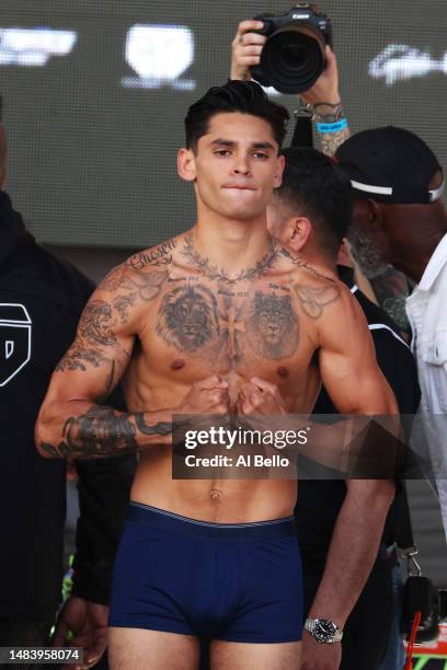
[[[349,180],[330,158],[316,149],[285,149],[286,168],[276,197],[294,213],[309,217],[322,246],[335,254],[353,211]]]

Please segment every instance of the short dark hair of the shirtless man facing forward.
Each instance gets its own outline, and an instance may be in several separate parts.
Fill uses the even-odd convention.
[[[197,142],[207,134],[213,116],[225,112],[240,112],[263,118],[271,125],[273,136],[282,147],[289,113],[283,105],[268,100],[256,82],[238,80],[229,80],[224,86],[213,86],[191,105],[185,118],[186,147],[196,151]]]

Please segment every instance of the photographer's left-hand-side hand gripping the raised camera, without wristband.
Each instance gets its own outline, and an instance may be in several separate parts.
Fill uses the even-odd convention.
[[[242,21],[238,25],[234,39],[231,43],[231,79],[251,79],[250,66],[260,65],[262,47],[266,43],[265,35],[251,33],[263,27],[262,21]]]

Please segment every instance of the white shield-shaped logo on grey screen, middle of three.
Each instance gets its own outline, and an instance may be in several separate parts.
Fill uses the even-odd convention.
[[[126,62],[138,77],[123,77],[123,86],[193,91],[196,82],[182,79],[194,62],[194,33],[184,25],[136,24],[126,36]]]

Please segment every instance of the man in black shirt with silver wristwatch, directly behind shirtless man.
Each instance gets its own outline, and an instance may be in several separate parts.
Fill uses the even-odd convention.
[[[276,192],[271,208],[271,232],[301,262],[313,253],[313,264],[318,257],[322,267],[334,267],[336,249],[331,245],[331,228],[324,226],[324,220],[325,203],[331,198],[329,176],[336,168],[312,149],[286,149],[285,154],[283,186]],[[343,226],[343,222],[332,221],[332,224]],[[339,270],[367,317],[378,363],[396,394],[400,412],[415,413],[420,389],[408,345],[387,314],[353,285],[349,270]],[[336,413],[324,390],[314,413]],[[402,495],[400,487],[398,490]],[[342,621],[341,663],[337,645],[318,644],[306,632],[302,670],[339,667],[374,670],[385,655],[392,619],[391,569],[396,564],[394,553],[388,552],[394,541],[393,507],[382,532],[385,511],[380,482],[300,482],[296,523],[303,566],[305,612],[311,619],[330,619],[324,608],[333,610],[335,604],[335,610],[346,615],[346,623]],[[368,563],[370,569],[365,569]],[[340,622],[334,623],[340,626]]]

